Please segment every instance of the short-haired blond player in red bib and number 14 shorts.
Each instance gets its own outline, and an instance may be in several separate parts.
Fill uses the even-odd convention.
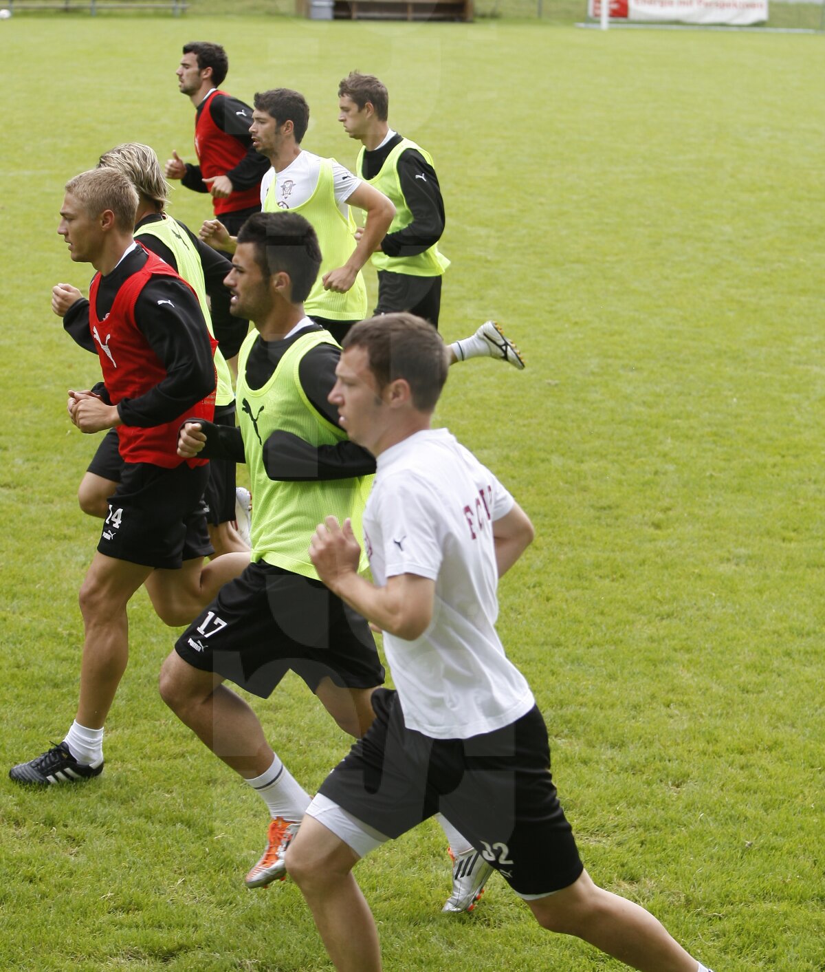
[[[214,410],[213,340],[189,285],[132,236],[138,193],[113,169],[94,169],[66,185],[57,232],[75,262],[97,271],[89,291],[86,336],[103,385],[70,391],[68,411],[84,433],[117,429],[123,469],[80,592],[85,639],[80,699],[64,740],[10,776],[22,783],[74,782],[103,769],[103,725],[128,660],[126,605],[154,573],[174,594],[186,623],[237,573],[230,554],[202,567],[210,552],[201,497],[208,470],[176,451],[184,419]],[[152,595],[152,591],[150,590]]]

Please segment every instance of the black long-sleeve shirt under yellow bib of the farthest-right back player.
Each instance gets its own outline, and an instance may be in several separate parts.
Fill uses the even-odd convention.
[[[374,179],[400,141],[401,136],[395,134],[380,149],[364,152],[358,173],[361,179]],[[434,246],[444,233],[444,200],[435,169],[417,149],[405,149],[396,165],[413,221],[403,229],[387,233],[381,249],[388,257],[416,257]]]

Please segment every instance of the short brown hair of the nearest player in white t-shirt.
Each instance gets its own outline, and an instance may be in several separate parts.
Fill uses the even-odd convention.
[[[419,411],[435,408],[447,380],[447,349],[438,331],[423,318],[406,311],[371,317],[347,331],[342,347],[365,349],[379,392],[403,378]]]

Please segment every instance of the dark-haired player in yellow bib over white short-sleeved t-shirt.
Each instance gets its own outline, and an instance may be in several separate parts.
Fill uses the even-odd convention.
[[[277,87],[256,94],[250,134],[272,166],[260,184],[261,208],[266,213],[298,213],[315,229],[323,261],[304,309],[340,341],[366,316],[361,267],[393,222],[395,207],[334,158],[302,149],[308,124],[309,105],[298,91]],[[358,241],[353,206],[366,214]],[[201,237],[229,253],[234,250],[235,241],[218,221],[207,221]]]

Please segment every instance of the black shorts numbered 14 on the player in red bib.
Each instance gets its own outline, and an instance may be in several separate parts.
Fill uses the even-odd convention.
[[[97,549],[107,557],[164,570],[213,553],[203,509],[208,470],[186,463],[175,469],[123,463]]]

